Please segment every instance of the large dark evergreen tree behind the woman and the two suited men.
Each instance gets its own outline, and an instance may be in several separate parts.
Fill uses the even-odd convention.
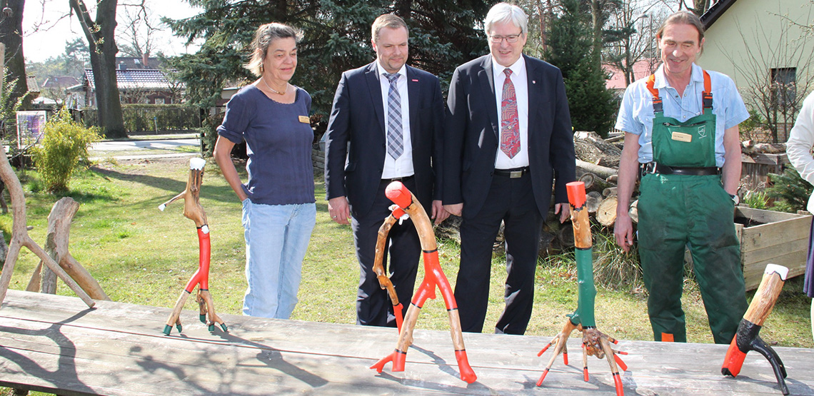
[[[205,40],[198,53],[173,61],[186,82],[190,102],[199,106],[212,106],[227,82],[253,80],[241,67],[247,61],[247,46],[254,28],[272,21],[303,29],[299,64],[291,83],[309,91],[313,111],[324,117],[330,112],[340,74],[375,59],[370,24],[383,13],[396,13],[409,27],[408,64],[440,76],[442,81],[449,80],[454,67],[488,50],[482,31],[475,30],[488,11],[481,0],[276,0],[271,4],[247,0],[228,6],[206,0],[190,2],[204,7],[204,12],[168,23],[178,36]]]

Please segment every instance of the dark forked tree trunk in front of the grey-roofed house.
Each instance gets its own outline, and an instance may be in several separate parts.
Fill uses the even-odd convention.
[[[90,19],[85,2],[69,0],[71,9],[85,32],[90,49],[90,66],[94,70],[98,124],[105,137],[127,137],[121,114],[119,85],[116,83],[116,0],[97,3],[96,21]]]

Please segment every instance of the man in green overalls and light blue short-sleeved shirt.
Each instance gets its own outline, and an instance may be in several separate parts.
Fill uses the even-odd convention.
[[[712,335],[726,344],[747,307],[733,210],[741,177],[737,124],[749,113],[728,76],[694,63],[703,34],[698,16],[670,15],[656,33],[663,64],[624,93],[614,233],[628,251],[628,208],[641,175],[637,235],[654,339],[686,342],[681,292],[689,246]]]

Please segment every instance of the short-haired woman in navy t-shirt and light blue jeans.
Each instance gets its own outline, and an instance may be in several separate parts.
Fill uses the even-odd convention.
[[[245,67],[260,77],[226,104],[215,160],[243,202],[246,280],[243,315],[288,319],[297,303],[302,261],[316,223],[309,122],[311,97],[288,83],[302,33],[284,24],[257,29]],[[230,156],[246,140],[248,181]]]

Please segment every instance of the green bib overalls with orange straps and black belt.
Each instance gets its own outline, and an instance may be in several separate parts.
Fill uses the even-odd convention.
[[[734,203],[716,168],[710,77],[704,72],[702,115],[683,123],[664,116],[659,90],[653,85],[650,76],[654,163],[643,166],[638,238],[654,339],[687,341],[681,292],[689,244],[712,335],[716,343],[728,344],[746,312],[746,290],[733,225]]]

